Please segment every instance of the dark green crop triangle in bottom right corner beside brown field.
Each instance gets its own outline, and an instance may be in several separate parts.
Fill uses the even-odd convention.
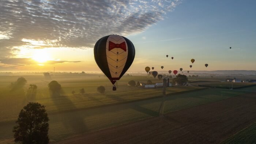
[[[256,143],[256,123],[241,130],[230,139],[223,141],[223,144],[255,144]]]

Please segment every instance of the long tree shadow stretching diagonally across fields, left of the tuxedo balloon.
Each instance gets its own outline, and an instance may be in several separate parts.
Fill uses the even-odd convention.
[[[62,96],[60,94],[51,94],[52,101],[59,111],[75,110],[76,106],[67,96]],[[81,133],[87,130],[84,124],[83,118],[80,116],[79,111],[73,111],[70,114],[61,114],[58,117],[67,130],[71,127],[75,132]]]

